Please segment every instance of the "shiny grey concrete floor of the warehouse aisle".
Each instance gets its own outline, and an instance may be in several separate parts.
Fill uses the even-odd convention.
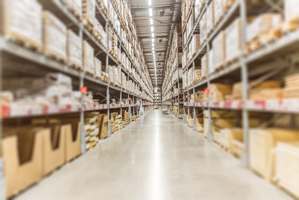
[[[147,112],[15,199],[292,199],[161,112]]]

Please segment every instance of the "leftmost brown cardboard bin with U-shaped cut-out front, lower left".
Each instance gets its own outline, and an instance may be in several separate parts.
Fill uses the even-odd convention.
[[[42,137],[47,132],[40,127],[4,128],[1,146],[7,198],[42,178]]]

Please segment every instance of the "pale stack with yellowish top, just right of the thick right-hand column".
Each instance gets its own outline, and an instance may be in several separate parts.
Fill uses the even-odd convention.
[[[274,148],[277,142],[299,140],[299,131],[282,128],[264,128],[249,130],[249,160],[254,172],[268,181],[273,181],[275,172]]]

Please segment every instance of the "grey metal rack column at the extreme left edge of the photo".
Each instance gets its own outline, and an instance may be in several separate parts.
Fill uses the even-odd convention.
[[[0,50],[0,91],[2,91],[2,70],[3,70],[3,60],[2,60],[2,51]],[[0,113],[2,113],[1,110],[2,106],[0,106]],[[0,118],[0,141],[2,140],[2,129],[3,129],[3,122],[2,118]],[[1,147],[1,142],[0,142],[0,199],[5,199],[6,197],[6,184],[5,184],[5,178],[4,178],[4,166],[3,166],[3,158],[1,155],[3,155],[2,152],[2,147]]]

